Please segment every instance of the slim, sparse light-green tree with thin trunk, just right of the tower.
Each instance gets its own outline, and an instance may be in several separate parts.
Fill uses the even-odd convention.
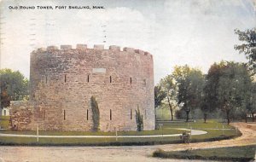
[[[166,98],[166,102],[171,112],[171,120],[173,121],[173,111],[177,102],[177,86],[174,84],[174,78],[172,75],[167,75],[160,80],[160,89],[163,92],[163,99]]]

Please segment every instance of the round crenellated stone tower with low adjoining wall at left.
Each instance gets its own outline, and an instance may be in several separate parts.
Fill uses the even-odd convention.
[[[91,130],[91,96],[100,111],[100,130],[154,130],[153,57],[139,49],[95,45],[49,46],[31,54],[30,101],[11,104],[16,130]]]

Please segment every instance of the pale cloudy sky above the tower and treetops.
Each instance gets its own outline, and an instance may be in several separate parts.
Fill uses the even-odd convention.
[[[42,5],[54,9],[10,9]],[[239,43],[234,29],[256,26],[253,6],[253,0],[2,0],[0,64],[28,78],[33,49],[85,43],[89,48],[104,44],[105,49],[119,45],[148,51],[154,55],[155,84],[175,65],[206,73],[216,61],[246,61],[234,49]]]

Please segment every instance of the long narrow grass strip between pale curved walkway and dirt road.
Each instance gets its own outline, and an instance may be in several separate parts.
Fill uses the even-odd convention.
[[[0,137],[0,145],[37,145],[37,146],[130,146],[178,143],[178,137],[152,138],[26,138]]]

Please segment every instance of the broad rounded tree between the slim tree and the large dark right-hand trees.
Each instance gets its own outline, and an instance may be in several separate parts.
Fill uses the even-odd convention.
[[[186,112],[186,122],[192,109],[201,106],[204,76],[196,68],[175,67],[173,77],[177,82],[177,103]]]

